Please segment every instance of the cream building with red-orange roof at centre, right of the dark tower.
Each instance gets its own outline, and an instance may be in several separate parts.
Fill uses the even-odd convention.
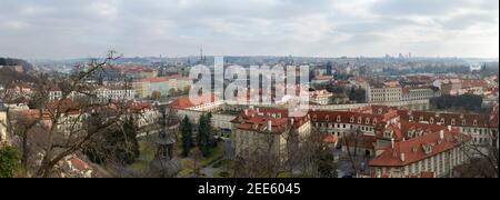
[[[288,110],[250,108],[232,122],[232,149],[236,157],[249,158],[256,154],[270,154],[281,162],[288,160],[291,137],[297,144],[310,134],[308,117],[292,118]]]

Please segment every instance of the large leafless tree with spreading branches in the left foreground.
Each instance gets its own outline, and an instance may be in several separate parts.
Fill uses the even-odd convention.
[[[78,70],[69,78],[52,79],[40,74],[34,82],[34,92],[31,96],[32,107],[39,112],[27,119],[12,119],[13,132],[19,137],[22,151],[22,163],[32,172],[27,176],[50,177],[54,167],[68,156],[78,153],[91,139],[104,134],[108,128],[122,123],[124,116],[129,114],[124,101],[93,101],[99,82],[89,79],[120,57],[110,51],[104,59],[92,59],[84,70]],[[50,99],[49,91],[60,89],[58,99]],[[91,123],[90,116],[99,113],[99,121]],[[38,138],[38,139],[34,139]],[[28,164],[29,157],[38,164]]]

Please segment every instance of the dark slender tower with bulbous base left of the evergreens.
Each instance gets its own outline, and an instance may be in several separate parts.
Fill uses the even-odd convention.
[[[153,140],[157,151],[149,168],[152,177],[174,178],[181,169],[179,161],[173,158],[173,147],[177,142],[174,131],[179,120],[173,113],[167,113],[166,107],[160,107],[160,132]]]

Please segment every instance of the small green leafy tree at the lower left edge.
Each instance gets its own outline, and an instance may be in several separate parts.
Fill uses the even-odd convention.
[[[0,148],[0,178],[12,178],[20,162],[19,152],[13,147]]]

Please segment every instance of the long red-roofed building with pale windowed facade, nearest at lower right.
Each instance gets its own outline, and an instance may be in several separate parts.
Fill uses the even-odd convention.
[[[399,127],[399,128],[398,128]],[[437,128],[436,128],[437,127]],[[377,157],[370,160],[373,178],[453,177],[453,168],[468,161],[466,146],[471,138],[459,129],[413,123],[412,129],[386,129],[378,139],[391,139],[389,147],[378,147]],[[397,136],[402,137],[399,141]]]

